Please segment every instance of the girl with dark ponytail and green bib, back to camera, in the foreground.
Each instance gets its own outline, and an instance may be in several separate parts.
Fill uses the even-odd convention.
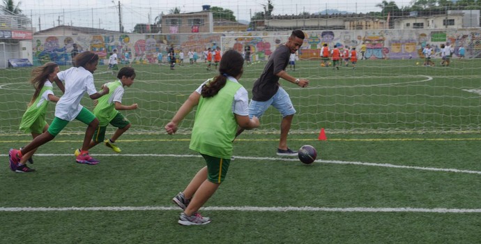
[[[247,90],[238,83],[243,74],[243,64],[243,56],[237,51],[225,52],[220,61],[220,74],[192,92],[174,118],[165,125],[167,133],[174,134],[178,124],[197,106],[190,149],[199,152],[207,166],[200,169],[187,188],[172,199],[183,209],[179,224],[211,222],[210,218],[197,211],[224,181],[231,162],[237,125],[245,130],[259,127],[256,116],[249,118]]]

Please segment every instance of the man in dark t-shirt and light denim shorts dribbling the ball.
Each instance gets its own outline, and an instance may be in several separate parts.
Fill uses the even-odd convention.
[[[252,116],[257,116],[260,119],[270,105],[273,105],[282,114],[277,155],[297,156],[297,151],[292,151],[287,146],[287,135],[289,130],[291,130],[291,123],[294,114],[296,114],[296,109],[292,105],[289,94],[280,86],[279,79],[285,79],[300,87],[306,87],[309,84],[308,79],[298,79],[289,75],[285,70],[289,63],[289,56],[296,53],[300,46],[303,45],[303,42],[303,31],[292,31],[287,43],[277,47],[273,54],[270,55],[261,77],[254,82],[254,87],[252,88],[253,96],[249,104],[249,116],[251,118]],[[237,135],[240,135],[242,131],[238,130]]]

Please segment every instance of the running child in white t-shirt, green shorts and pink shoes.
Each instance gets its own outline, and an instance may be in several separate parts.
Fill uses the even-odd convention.
[[[33,141],[20,150],[12,148],[8,152],[10,169],[12,171],[17,171],[17,167],[21,167],[19,163],[23,155],[52,141],[52,139],[54,139],[56,135],[59,135],[59,132],[74,119],[89,125],[85,132],[82,151],[75,160],[82,164],[98,164],[99,161],[89,155],[88,149],[93,132],[98,127],[98,119],[96,119],[96,116],[93,115],[89,109],[80,105],[80,100],[84,97],[84,93],[88,93],[89,97],[93,100],[100,98],[109,93],[109,88],[105,86],[102,91],[97,92],[93,84],[93,72],[97,69],[98,65],[97,54],[89,51],[82,52],[75,56],[75,65],[76,67],[61,71],[54,77],[54,82],[61,88],[64,94],[56,103],[55,119],[52,121],[48,130],[43,132],[42,135],[35,137]],[[62,81],[65,82],[65,86],[63,86]]]

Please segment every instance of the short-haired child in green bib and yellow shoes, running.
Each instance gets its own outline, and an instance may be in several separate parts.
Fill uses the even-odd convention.
[[[102,98],[98,98],[96,107],[93,109],[93,115],[95,115],[99,121],[98,128],[93,133],[93,138],[89,144],[89,148],[93,148],[101,142],[105,143],[105,146],[112,148],[114,152],[120,153],[121,148],[116,146],[115,142],[123,132],[130,128],[130,121],[126,119],[118,110],[133,110],[137,109],[137,103],[130,106],[122,105],[122,96],[124,93],[124,86],[130,87],[134,83],[135,70],[130,67],[123,67],[117,74],[118,80],[115,82],[109,82],[103,84],[109,88],[109,93]],[[107,130],[107,125],[113,125],[117,128],[114,135],[110,139],[105,139],[105,131]],[[105,141],[104,141],[105,139]],[[80,150],[75,151],[75,156],[80,154]]]

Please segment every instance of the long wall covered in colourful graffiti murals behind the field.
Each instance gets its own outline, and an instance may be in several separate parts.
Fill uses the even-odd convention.
[[[54,61],[59,65],[71,64],[73,43],[79,52],[92,51],[100,56],[100,64],[106,64],[113,49],[121,63],[157,63],[158,56],[167,57],[167,48],[174,45],[176,52],[196,52],[201,56],[208,47],[220,46],[224,51],[236,49],[242,52],[249,46],[253,60],[266,60],[274,49],[287,41],[290,31],[243,32],[211,34],[120,34],[92,36],[33,36],[33,64],[38,66]],[[367,59],[422,58],[422,48],[430,44],[440,52],[443,43],[466,49],[466,58],[481,56],[480,29],[404,29],[367,31],[305,31],[304,45],[299,50],[300,59],[319,59],[319,50],[326,43],[330,48],[356,47],[365,43]],[[158,55],[161,53],[162,55]]]

